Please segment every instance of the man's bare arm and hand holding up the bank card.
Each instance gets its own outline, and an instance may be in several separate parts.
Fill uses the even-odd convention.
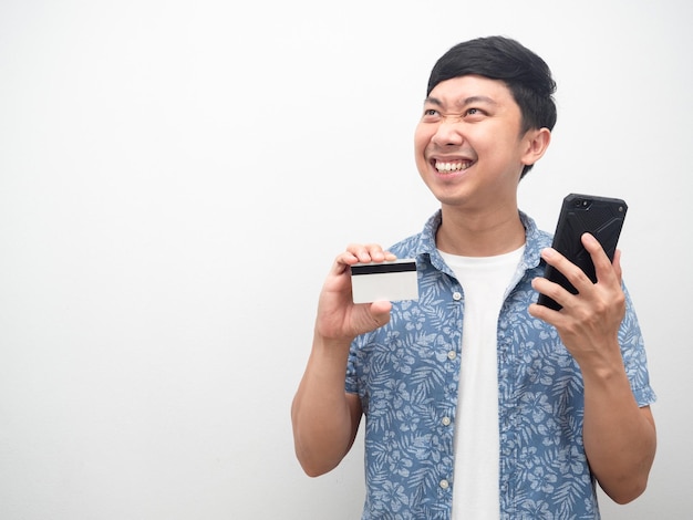
[[[291,406],[296,455],[310,476],[335,468],[359,429],[361,402],[344,392],[351,342],[390,321],[390,302],[352,303],[349,267],[384,260],[394,256],[380,246],[350,246],[337,257],[320,293],[312,350]]]

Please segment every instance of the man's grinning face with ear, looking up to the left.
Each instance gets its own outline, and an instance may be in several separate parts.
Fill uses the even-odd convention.
[[[540,131],[520,128],[505,83],[475,75],[441,82],[416,126],[416,166],[444,207],[515,207],[523,167],[539,158],[532,139]]]

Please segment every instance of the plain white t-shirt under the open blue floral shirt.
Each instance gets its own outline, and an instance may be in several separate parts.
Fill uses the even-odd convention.
[[[497,257],[441,256],[464,292],[453,520],[500,516],[497,327],[525,247]]]

